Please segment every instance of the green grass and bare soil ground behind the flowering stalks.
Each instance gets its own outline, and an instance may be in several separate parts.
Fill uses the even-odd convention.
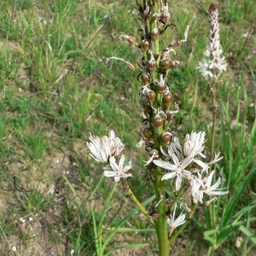
[[[166,45],[190,26],[175,56],[181,66],[169,79],[180,108],[172,131],[180,138],[191,131],[211,135],[212,95],[195,67],[206,48],[212,2],[168,3],[177,28],[166,31]],[[213,3],[228,62],[218,91],[216,148],[224,160],[216,170],[230,195],[218,201],[217,225],[210,227],[220,225],[218,233],[207,233],[201,207],[198,221],[172,244],[172,255],[207,255],[210,246],[214,255],[255,255],[256,5]],[[101,178],[102,166],[85,145],[90,131],[102,136],[114,130],[133,161],[131,188],[141,201],[149,198],[154,211],[152,186],[138,176],[145,160],[135,147],[143,118],[139,68],[106,64],[110,56],[136,64],[138,49],[117,36],[138,37],[138,29],[136,1],[1,1],[0,255],[157,253],[152,227],[138,218],[122,188]]]

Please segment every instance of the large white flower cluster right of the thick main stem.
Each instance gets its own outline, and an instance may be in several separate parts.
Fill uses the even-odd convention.
[[[172,143],[168,145],[166,150],[161,148],[161,153],[167,159],[170,159],[172,163],[166,160],[153,160],[154,165],[170,171],[163,175],[162,180],[176,177],[175,186],[177,190],[180,189],[183,178],[190,181],[191,193],[195,203],[198,201],[202,203],[203,194],[224,195],[228,193],[228,191],[218,191],[219,189],[217,188],[221,181],[220,177],[218,177],[217,183],[211,187],[214,172],[211,172],[209,177],[202,177],[203,174],[207,175],[207,171],[212,164],[223,158],[218,157],[219,154],[215,154],[215,158],[211,162],[202,161],[199,156],[206,158],[202,153],[205,148],[203,146],[204,142],[205,132],[191,132],[191,134],[186,135],[182,150],[177,137],[173,137]],[[197,176],[194,175],[195,173],[197,173]]]

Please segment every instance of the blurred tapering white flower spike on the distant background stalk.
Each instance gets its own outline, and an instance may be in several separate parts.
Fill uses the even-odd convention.
[[[209,9],[209,22],[210,33],[209,42],[205,55],[207,59],[199,62],[199,68],[201,75],[206,79],[210,77],[214,81],[218,81],[218,77],[221,73],[226,71],[227,63],[224,57],[221,57],[223,51],[219,41],[219,28],[218,28],[218,9],[214,4]]]

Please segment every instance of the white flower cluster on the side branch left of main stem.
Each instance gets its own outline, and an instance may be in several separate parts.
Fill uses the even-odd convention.
[[[108,167],[104,167],[104,175],[106,177],[113,177],[113,180],[118,183],[121,177],[132,177],[131,173],[127,173],[131,169],[131,160],[128,166],[125,164],[125,155],[123,154],[116,163],[119,154],[125,148],[119,137],[115,137],[114,132],[109,132],[108,136],[95,137],[90,134],[90,143],[86,143],[90,149],[90,156],[103,163],[109,163]]]

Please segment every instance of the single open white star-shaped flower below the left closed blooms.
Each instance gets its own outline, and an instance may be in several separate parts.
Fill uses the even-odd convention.
[[[125,163],[125,155],[123,154],[121,156],[121,159],[119,160],[119,165],[116,163],[116,159],[113,156],[110,156],[109,158],[109,166],[104,168],[104,175],[106,177],[113,177],[114,181],[116,183],[119,182],[121,177],[132,177],[131,173],[126,173],[131,169],[131,160],[129,161],[128,166],[124,167]]]

